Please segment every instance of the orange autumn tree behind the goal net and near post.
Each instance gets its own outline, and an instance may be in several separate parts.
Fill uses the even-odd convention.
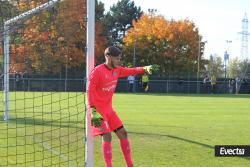
[[[27,11],[46,0],[20,0],[18,8]],[[66,0],[34,15],[16,30],[12,37],[12,71],[59,73],[65,69],[84,67],[86,46],[86,1]],[[102,55],[106,38],[102,25],[96,22],[96,55]]]

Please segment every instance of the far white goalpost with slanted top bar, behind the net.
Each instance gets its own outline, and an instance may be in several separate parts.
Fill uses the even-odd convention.
[[[4,114],[3,114],[3,120],[7,121],[9,119],[9,32],[10,27],[12,24],[23,21],[27,19],[28,17],[31,17],[34,14],[37,14],[43,10],[46,10],[52,6],[54,6],[56,3],[63,1],[63,0],[50,0],[49,2],[42,4],[34,9],[31,9],[27,12],[24,12],[16,17],[13,17],[10,20],[7,20],[4,22],[4,33],[3,33],[3,41],[4,41]]]

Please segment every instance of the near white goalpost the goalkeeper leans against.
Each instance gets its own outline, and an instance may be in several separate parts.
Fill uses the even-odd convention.
[[[94,68],[94,59],[95,59],[95,1],[88,0],[87,1],[87,48],[86,48],[86,88],[88,88],[88,76],[92,69]],[[88,107],[88,100],[86,104],[86,143],[85,143],[85,167],[93,167],[94,166],[94,158],[93,158],[93,134],[91,129],[91,116],[90,116],[90,108]]]

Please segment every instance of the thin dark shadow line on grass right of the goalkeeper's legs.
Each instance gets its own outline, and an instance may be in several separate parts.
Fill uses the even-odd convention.
[[[167,135],[167,134],[154,134],[154,133],[131,132],[131,131],[130,131],[129,133],[131,133],[131,134],[136,134],[136,135],[168,137],[168,138],[171,138],[171,139],[175,139],[175,140],[180,140],[180,141],[184,141],[184,142],[196,144],[196,145],[199,145],[199,146],[202,146],[202,147],[205,147],[205,148],[213,149],[213,150],[214,150],[214,146],[211,146],[211,145],[208,145],[208,144],[205,144],[205,143],[201,143],[201,142],[197,142],[197,141],[194,141],[194,140],[190,140],[190,139],[181,138],[181,137],[178,137],[178,136]],[[239,157],[239,158],[243,158],[243,159],[246,159],[246,160],[250,160],[250,157]]]

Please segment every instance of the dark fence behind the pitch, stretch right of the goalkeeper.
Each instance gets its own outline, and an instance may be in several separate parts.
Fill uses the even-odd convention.
[[[144,92],[139,80],[136,81],[136,92]],[[126,80],[120,80],[116,91],[128,91],[128,83]],[[236,85],[229,85],[228,81],[218,81],[212,88],[210,82],[204,84],[201,80],[150,80],[149,90],[152,93],[236,93]],[[239,93],[250,93],[250,82],[241,83]]]

